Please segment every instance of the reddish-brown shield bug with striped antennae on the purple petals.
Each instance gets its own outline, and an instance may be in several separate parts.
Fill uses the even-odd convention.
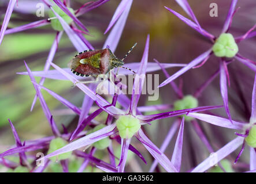
[[[121,67],[132,71],[127,67],[123,67],[123,65],[125,57],[128,56],[136,45],[137,43],[132,46],[132,48],[125,54],[123,59],[118,59],[109,48],[99,50],[90,49],[88,51],[80,52],[69,62],[68,67],[71,68],[73,74],[80,76],[93,76],[96,78],[95,81],[84,81],[80,83],[96,83],[98,81],[103,82],[103,80],[106,78],[102,78],[102,75],[109,74],[109,71],[114,68]],[[132,72],[135,73],[134,71]],[[97,90],[98,86],[96,89],[96,94]]]

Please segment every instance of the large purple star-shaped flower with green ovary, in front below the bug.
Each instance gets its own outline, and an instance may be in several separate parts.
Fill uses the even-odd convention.
[[[55,152],[52,152],[49,155],[46,155],[45,158],[50,158],[51,156],[63,154],[65,152],[73,151],[81,147],[86,147],[87,145],[90,145],[92,143],[95,143],[96,141],[105,139],[105,137],[112,136],[115,133],[118,133],[121,137],[121,156],[120,156],[120,163],[118,164],[118,172],[124,171],[125,166],[125,160],[127,159],[127,151],[128,147],[131,141],[131,137],[133,135],[136,136],[136,138],[144,145],[144,147],[147,148],[147,150],[150,152],[150,154],[158,160],[158,162],[165,168],[166,171],[169,172],[177,172],[180,170],[180,161],[177,161],[181,159],[181,148],[182,148],[182,132],[180,132],[180,136],[178,137],[177,141],[177,148],[174,153],[175,155],[175,161],[173,161],[173,164],[170,162],[170,160],[147,138],[146,135],[144,135],[142,129],[140,129],[140,125],[147,124],[153,120],[161,119],[161,118],[167,118],[167,117],[173,117],[178,116],[185,113],[190,112],[197,112],[201,110],[207,110],[207,109],[214,109],[219,108],[219,106],[209,106],[209,107],[202,107],[202,108],[192,108],[192,109],[184,109],[184,110],[176,110],[174,112],[166,112],[166,113],[160,113],[160,114],[153,114],[150,116],[143,116],[140,114],[137,114],[137,105],[139,101],[140,94],[142,92],[142,86],[144,80],[139,79],[139,75],[146,73],[146,66],[147,66],[147,57],[149,53],[149,36],[147,37],[144,53],[142,60],[140,62],[140,67],[138,68],[137,75],[135,77],[135,82],[133,83],[133,89],[132,89],[132,97],[131,102],[129,104],[129,108],[127,112],[124,112],[122,110],[119,110],[117,108],[114,108],[113,105],[107,105],[106,102],[103,103],[102,99],[97,96],[93,96],[95,99],[95,102],[97,105],[105,110],[108,114],[115,117],[117,119],[116,124],[110,124],[105,128],[100,129],[99,131],[96,131],[94,133],[91,133],[90,135],[87,135],[85,137],[82,137],[76,141],[73,141],[72,143],[66,145],[65,147],[61,148],[60,150],[57,150]],[[58,71],[62,72],[65,76],[69,75],[61,68],[55,66],[55,64],[52,64]],[[71,76],[67,76],[69,79],[71,79]],[[74,81],[74,79],[72,79]],[[78,83],[77,87],[79,87],[81,90],[84,89],[84,85]],[[89,95],[89,91],[83,90],[87,95]],[[139,93],[138,93],[139,91]],[[91,91],[90,91],[91,93]],[[91,97],[92,98],[92,97]],[[87,122],[84,124],[81,124],[81,129],[84,128],[84,125],[86,125],[88,122],[91,121],[91,118],[94,118],[99,113],[101,113],[101,110],[97,110],[94,113],[92,113],[89,117]],[[122,120],[121,120],[122,119]],[[184,119],[181,123],[181,131],[183,130],[184,125]],[[77,130],[77,129],[76,129]],[[136,133],[138,132],[138,133]],[[73,137],[71,137],[73,138]],[[181,144],[181,145],[180,145]],[[43,158],[41,158],[43,159]]]

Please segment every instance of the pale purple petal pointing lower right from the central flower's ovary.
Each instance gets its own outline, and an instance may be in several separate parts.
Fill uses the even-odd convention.
[[[139,129],[138,131],[138,136],[140,139],[143,139],[147,144],[150,144],[151,146],[149,147],[147,144],[144,144],[144,147],[150,152],[150,154],[158,160],[159,164],[161,164],[162,167],[165,168],[166,171],[170,173],[177,173],[176,168],[173,166],[173,164],[170,162],[170,160],[165,156],[164,153],[162,153],[150,140],[149,138],[144,134],[142,129]],[[152,149],[152,147],[154,149]],[[157,151],[156,151],[157,150]],[[161,154],[159,154],[160,152]]]

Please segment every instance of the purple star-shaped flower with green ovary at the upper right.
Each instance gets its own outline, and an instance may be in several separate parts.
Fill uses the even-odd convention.
[[[227,78],[229,81],[229,74],[228,74],[228,68],[227,68],[227,62],[230,60],[230,57],[234,57],[235,59],[239,60],[239,62],[242,62],[247,67],[249,67],[251,70],[256,71],[256,63],[251,61],[250,59],[247,59],[243,56],[241,56],[238,52],[238,46],[237,44],[240,43],[240,41],[246,39],[250,33],[253,31],[256,25],[253,26],[248,32],[246,32],[243,36],[240,36],[238,38],[233,38],[232,34],[227,33],[229,28],[231,27],[231,22],[233,15],[235,14],[235,6],[238,0],[232,0],[231,7],[228,11],[228,16],[226,18],[226,21],[224,23],[224,26],[222,28],[222,32],[219,37],[214,37],[212,34],[208,33],[206,30],[202,29],[199,25],[198,21],[195,18],[195,15],[190,7],[188,5],[188,2],[186,0],[184,1],[177,1],[179,5],[184,9],[184,11],[192,18],[194,23],[191,20],[188,20],[187,18],[181,16],[181,14],[177,13],[176,11],[170,9],[169,7],[165,8],[169,10],[171,13],[175,14],[180,20],[185,22],[187,25],[189,25],[191,28],[195,29],[199,33],[201,33],[203,36],[207,37],[212,43],[213,48],[210,48],[206,52],[202,53],[200,56],[196,57],[192,62],[188,63],[187,66],[181,68],[181,70],[177,71],[175,74],[170,76],[168,79],[166,79],[164,82],[162,82],[159,87],[165,86],[169,82],[173,81],[180,75],[184,74],[184,72],[190,70],[191,68],[197,68],[201,67],[207,59],[209,59],[209,56],[214,53],[217,57],[220,57],[220,88],[221,88],[221,95],[222,99],[224,101],[225,110],[227,112],[229,120],[232,122],[231,114],[229,112],[228,108],[228,90],[227,90]],[[251,36],[250,36],[251,37]],[[220,52],[222,52],[220,54]],[[231,53],[232,52],[232,53]],[[229,59],[228,59],[229,57]],[[199,63],[201,63],[199,66],[197,66]],[[229,82],[230,85],[230,82]]]

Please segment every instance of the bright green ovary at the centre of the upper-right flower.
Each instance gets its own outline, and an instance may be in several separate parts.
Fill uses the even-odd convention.
[[[222,33],[213,45],[213,53],[217,57],[233,57],[238,53],[238,45],[232,34]]]

